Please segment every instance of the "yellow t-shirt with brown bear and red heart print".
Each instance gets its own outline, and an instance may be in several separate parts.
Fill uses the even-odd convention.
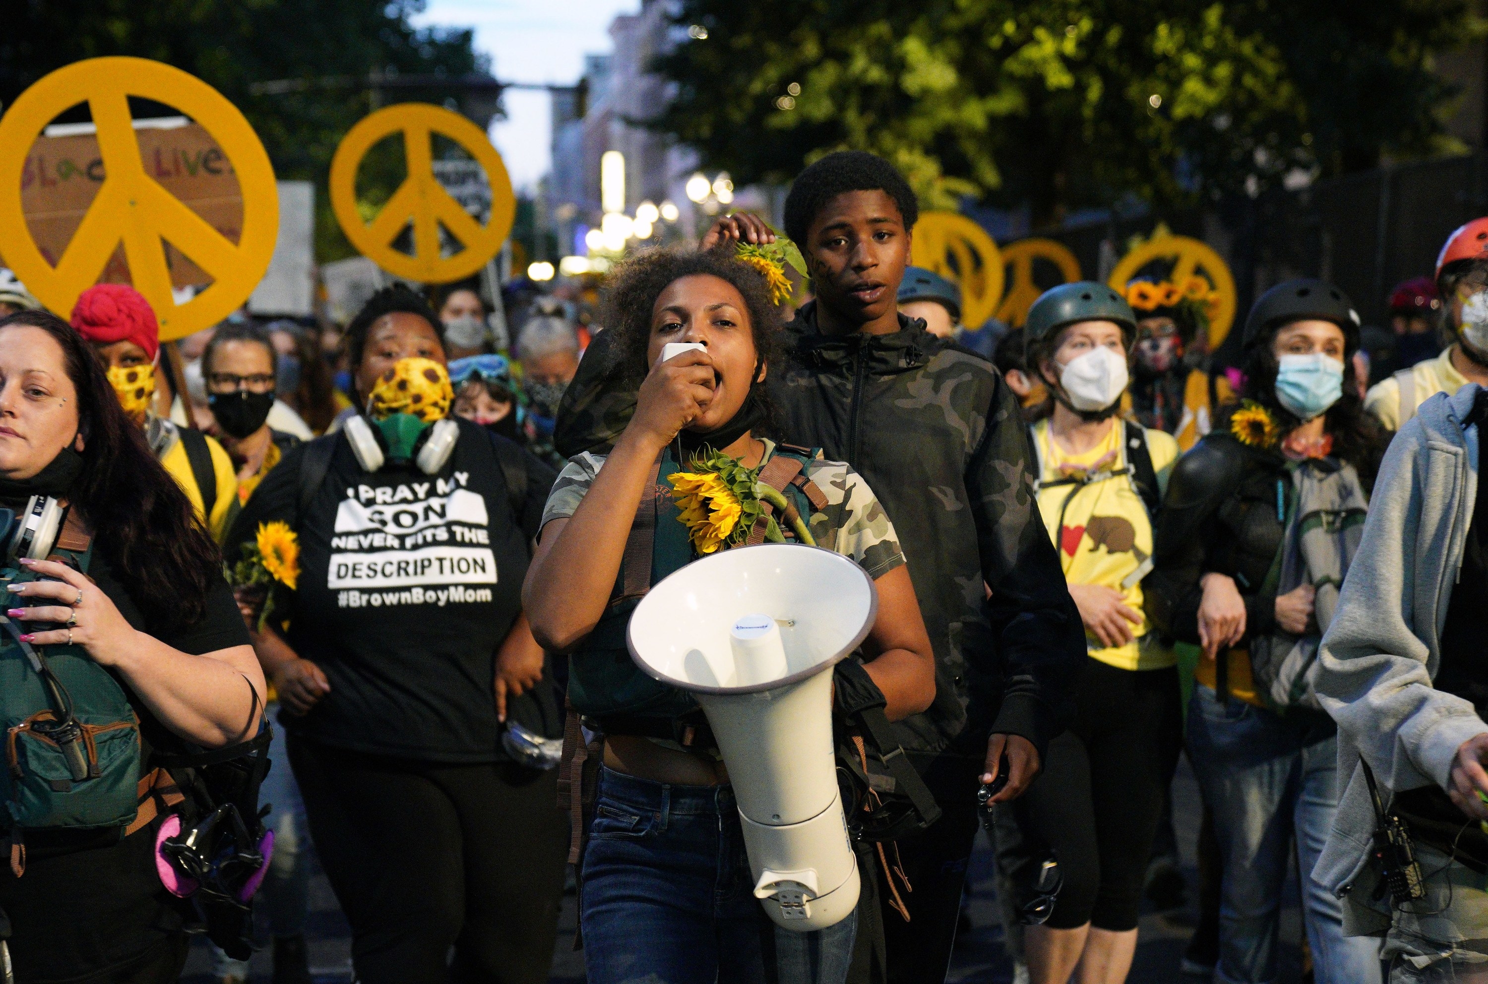
[[[1059,565],[1070,584],[1104,584],[1125,596],[1125,605],[1141,614],[1132,642],[1103,647],[1086,635],[1091,657],[1125,670],[1153,670],[1174,664],[1170,650],[1147,638],[1147,617],[1141,608],[1141,578],[1152,569],[1152,520],[1141,496],[1126,474],[1126,428],[1112,421],[1110,431],[1092,450],[1071,455],[1049,433],[1049,421],[1033,425],[1034,444],[1042,465],[1039,511],[1049,538],[1059,551]],[[1158,473],[1159,492],[1167,489],[1168,473],[1178,458],[1178,443],[1171,434],[1146,430],[1147,453]],[[1109,474],[1088,485],[1052,485],[1070,476]]]

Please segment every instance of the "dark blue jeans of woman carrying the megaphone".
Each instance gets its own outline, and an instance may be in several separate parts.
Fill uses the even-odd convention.
[[[729,786],[671,786],[600,770],[583,852],[589,984],[841,984],[857,916],[811,933],[754,898]]]

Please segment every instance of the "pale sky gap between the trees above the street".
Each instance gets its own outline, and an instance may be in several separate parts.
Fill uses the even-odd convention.
[[[473,27],[475,48],[491,56],[493,74],[503,82],[573,85],[583,56],[609,52],[610,21],[634,13],[640,0],[429,0],[418,27]],[[549,97],[542,91],[509,89],[501,97],[506,119],[491,126],[516,189],[536,187],[548,172]]]

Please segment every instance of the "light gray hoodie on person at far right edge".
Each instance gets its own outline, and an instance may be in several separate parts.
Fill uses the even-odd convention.
[[[1478,496],[1478,427],[1463,424],[1478,391],[1436,394],[1390,443],[1318,651],[1317,691],[1338,722],[1338,774],[1348,779],[1312,877],[1345,898],[1354,935],[1387,928],[1369,905],[1375,813],[1360,757],[1384,797],[1433,782],[1445,789],[1458,746],[1488,731],[1472,703],[1431,687]]]

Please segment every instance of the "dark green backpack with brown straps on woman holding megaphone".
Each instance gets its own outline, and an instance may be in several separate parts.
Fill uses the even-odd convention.
[[[806,517],[826,507],[826,495],[805,477],[806,462],[815,456],[815,449],[777,444],[760,471],[760,480],[786,495]],[[682,470],[670,447],[652,465],[625,541],[610,603],[583,648],[568,657],[570,706],[610,734],[673,737],[674,722],[696,727],[702,721],[698,702],[690,694],[647,676],[625,645],[631,612],[650,586],[696,559],[667,482]],[[795,537],[787,523],[780,526],[787,538]],[[763,538],[765,523],[760,519],[747,543],[762,543]]]

